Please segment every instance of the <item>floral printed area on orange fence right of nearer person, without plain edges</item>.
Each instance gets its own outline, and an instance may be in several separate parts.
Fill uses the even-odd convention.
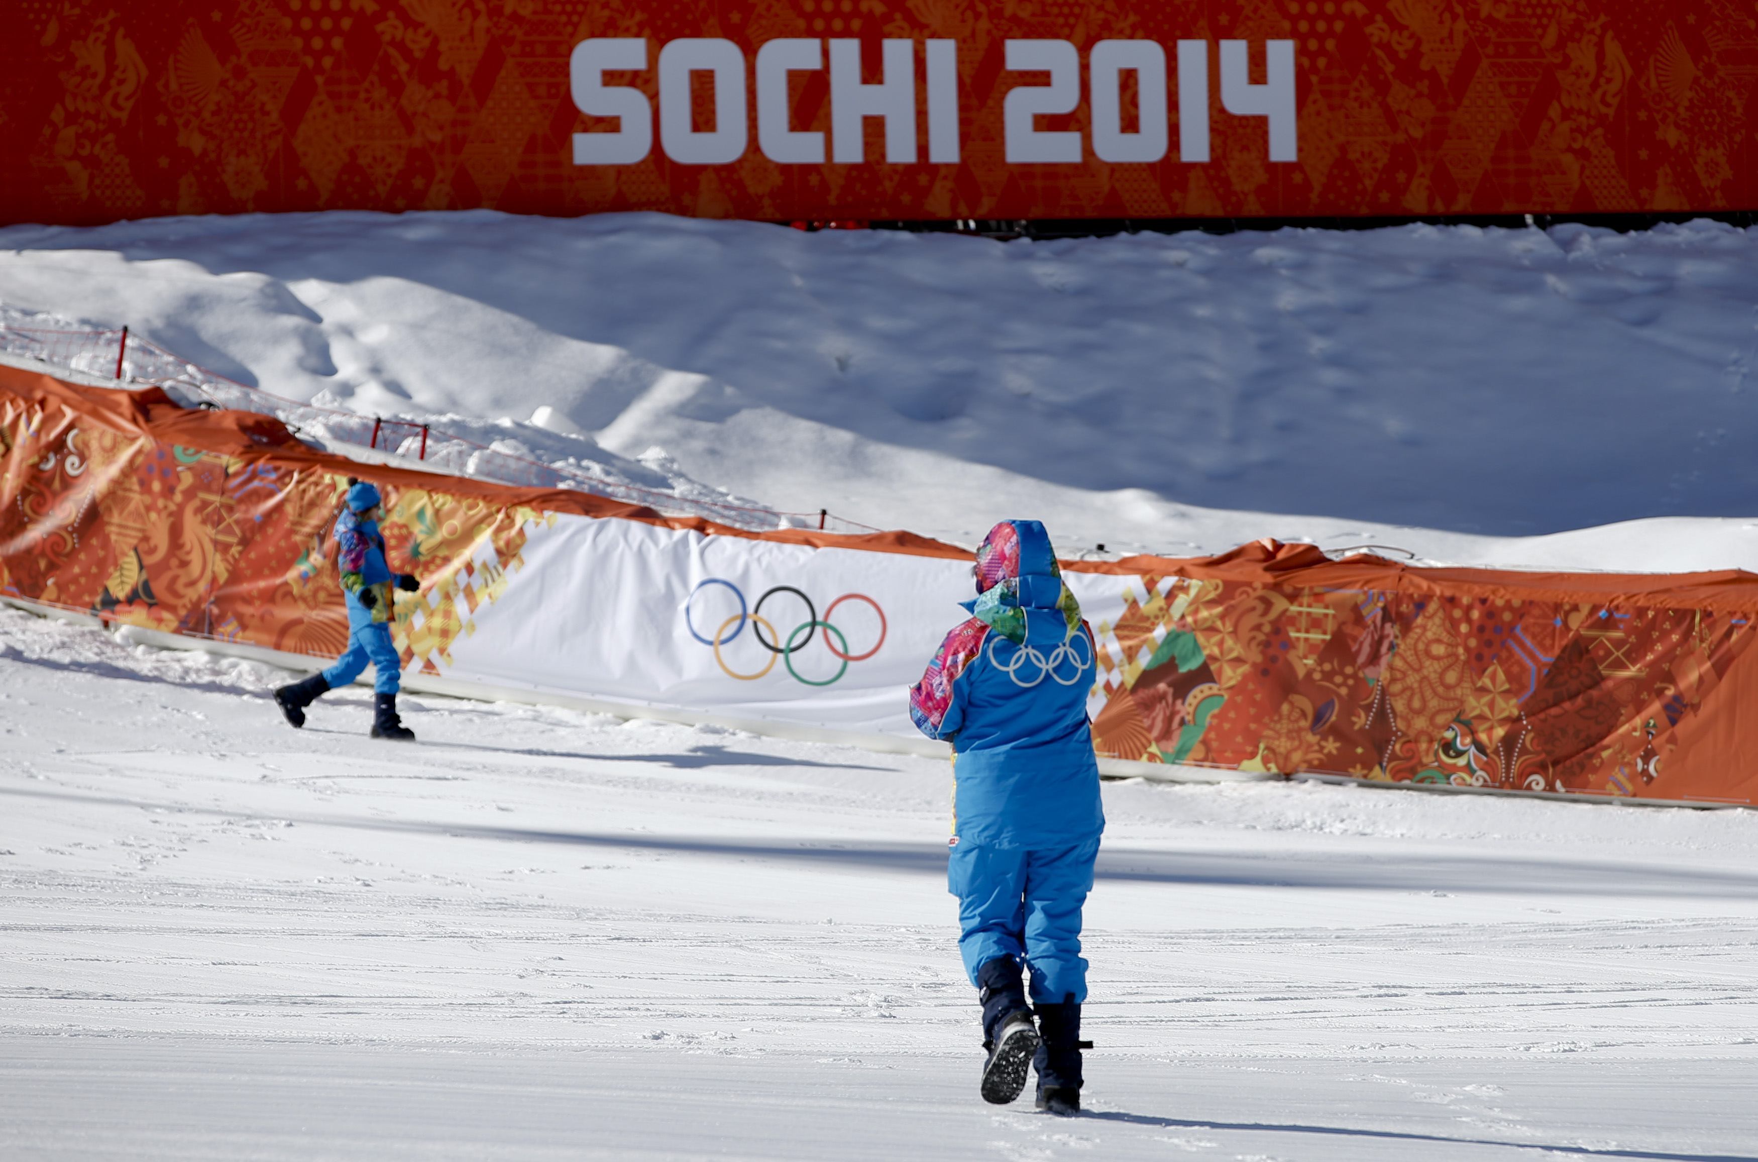
[[[1651,798],[1693,795],[1668,754],[1753,640],[1695,608],[1171,575],[1095,629],[1101,754]]]

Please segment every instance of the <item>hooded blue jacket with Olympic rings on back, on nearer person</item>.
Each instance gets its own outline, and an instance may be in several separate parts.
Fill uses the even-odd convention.
[[[977,547],[970,621],[946,635],[911,691],[911,717],[951,740],[953,835],[992,847],[1065,847],[1104,832],[1086,696],[1092,629],[1037,520],[1004,520]]]

